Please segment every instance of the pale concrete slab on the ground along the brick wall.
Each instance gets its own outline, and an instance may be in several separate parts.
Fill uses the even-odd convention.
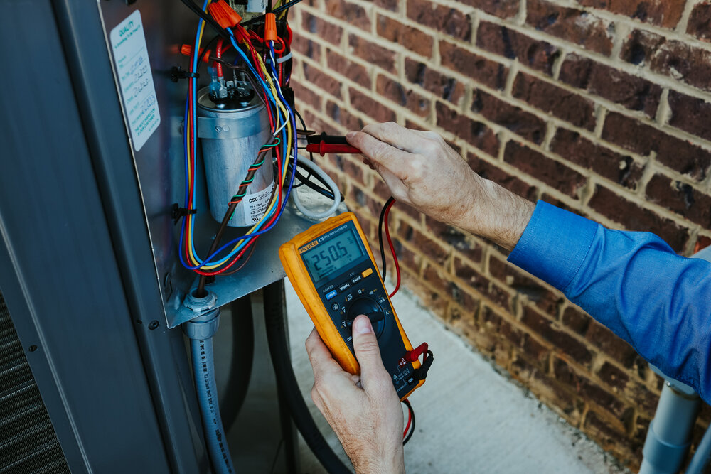
[[[393,303],[412,343],[426,340],[435,355],[427,382],[410,397],[417,431],[405,446],[408,473],[629,472],[496,372],[491,362],[444,328],[407,289]],[[288,281],[287,313],[296,377],[304,398],[311,402],[314,375],[304,340],[313,325]],[[326,420],[312,403],[310,409],[328,442],[348,463]],[[325,472],[303,440],[300,456],[302,473]]]

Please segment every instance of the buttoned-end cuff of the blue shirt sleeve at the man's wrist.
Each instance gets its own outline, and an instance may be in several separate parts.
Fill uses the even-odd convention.
[[[508,262],[565,292],[587,257],[598,226],[539,200]]]

